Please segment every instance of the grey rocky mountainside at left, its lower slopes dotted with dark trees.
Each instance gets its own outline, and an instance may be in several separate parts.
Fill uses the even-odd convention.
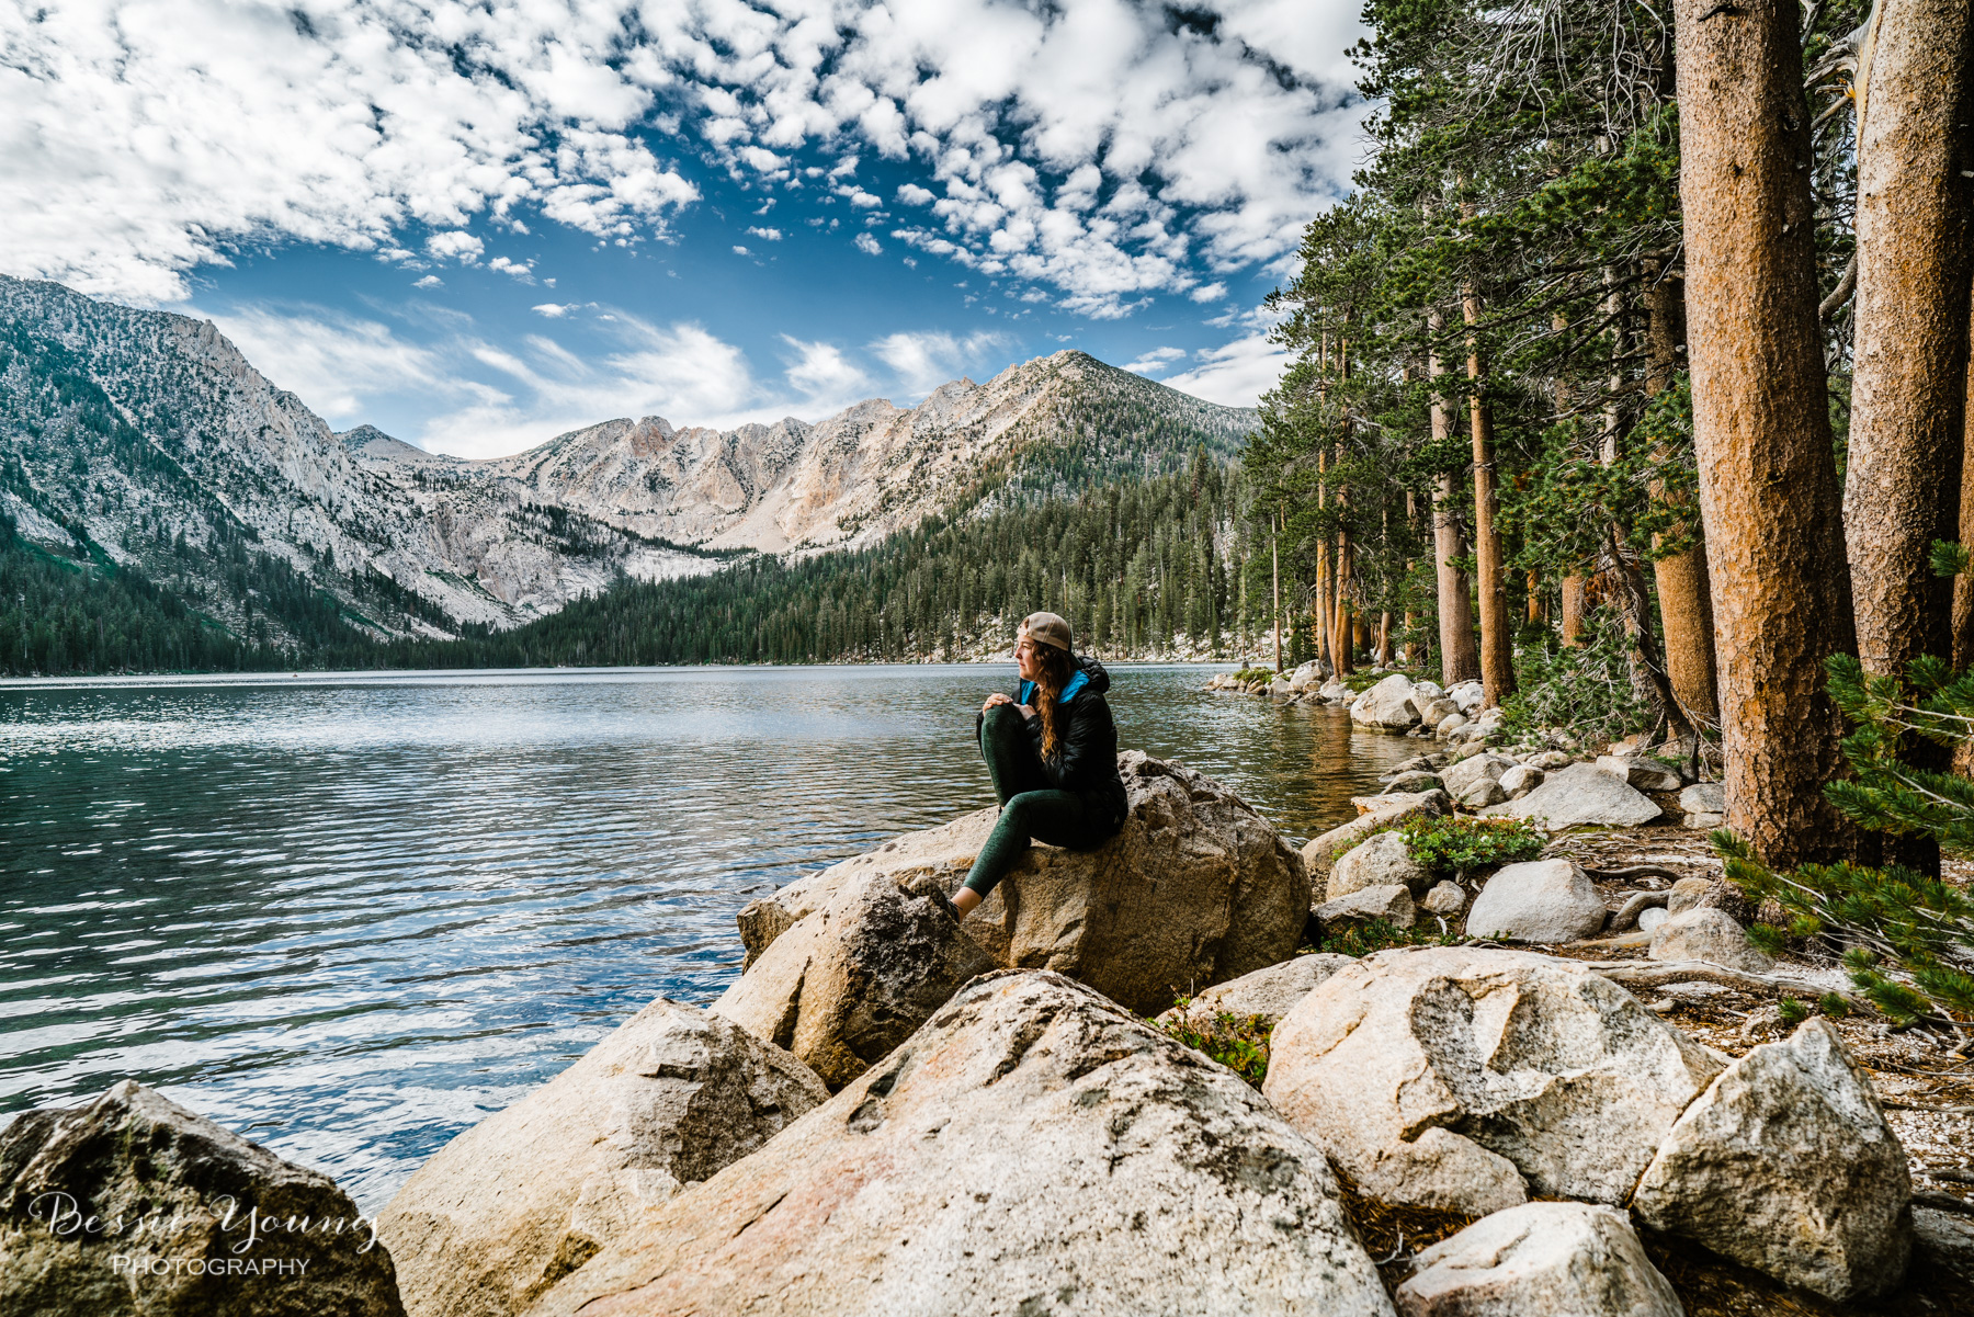
[[[134,565],[227,628],[272,640],[257,586],[241,584],[266,582],[270,563],[371,634],[513,626],[620,571],[717,565],[519,486],[450,498],[381,476],[209,322],[6,276],[0,513],[30,541]]]

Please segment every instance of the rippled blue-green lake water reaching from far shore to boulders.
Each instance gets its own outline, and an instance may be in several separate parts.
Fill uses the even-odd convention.
[[[1417,752],[1121,665],[1121,744],[1303,839]],[[120,1078],[381,1206],[657,995],[734,912],[993,804],[1003,667],[578,669],[0,687],[0,1118]]]

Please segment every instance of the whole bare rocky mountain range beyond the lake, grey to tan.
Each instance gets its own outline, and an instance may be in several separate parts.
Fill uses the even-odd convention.
[[[377,638],[501,630],[624,577],[869,547],[932,515],[1171,474],[1200,448],[1226,460],[1253,425],[1060,351],[908,409],[732,430],[618,419],[468,462],[334,432],[211,322],[0,276],[0,513],[39,551],[134,567],[237,634],[259,616],[276,644],[280,618],[255,606],[274,579]]]

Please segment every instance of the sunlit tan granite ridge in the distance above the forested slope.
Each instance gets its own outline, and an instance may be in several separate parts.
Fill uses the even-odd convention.
[[[736,430],[618,419],[474,466],[642,535],[784,553],[863,547],[983,500],[1177,470],[1198,444],[1228,456],[1252,426],[1253,413],[1058,351],[983,385],[940,385],[908,409],[869,399],[815,425]],[[424,460],[377,458],[379,470]]]

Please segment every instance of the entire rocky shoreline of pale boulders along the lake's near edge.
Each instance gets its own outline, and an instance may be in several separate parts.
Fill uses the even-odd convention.
[[[653,1001],[375,1222],[130,1082],[16,1118],[0,1309],[1974,1305],[1956,1058],[1786,1015],[1842,975],[1741,936],[1706,784],[1459,736],[1484,719],[1441,738],[1461,691],[1425,685],[1346,691],[1437,744],[1301,849],[1131,752],[1123,833],[1034,847],[965,920],[946,892],[993,810],[752,902],[721,1001]],[[1449,829],[1540,853],[1449,869],[1415,843]],[[1396,944],[1311,950],[1352,938]],[[1216,1021],[1265,1078],[1177,1041]]]

